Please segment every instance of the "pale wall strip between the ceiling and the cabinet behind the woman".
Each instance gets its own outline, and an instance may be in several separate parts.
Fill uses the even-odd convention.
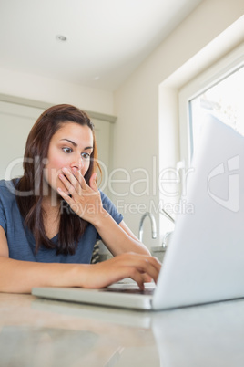
[[[0,93],[51,104],[71,103],[84,110],[114,114],[113,93],[0,68]]]

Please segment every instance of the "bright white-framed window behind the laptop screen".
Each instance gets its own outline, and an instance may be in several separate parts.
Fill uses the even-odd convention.
[[[244,47],[191,81],[179,93],[181,160],[188,165],[198,149],[206,114],[244,135]]]

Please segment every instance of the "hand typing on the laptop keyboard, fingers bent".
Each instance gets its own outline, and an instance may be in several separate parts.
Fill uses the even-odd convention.
[[[156,257],[125,253],[107,261],[90,265],[82,279],[83,288],[105,288],[124,278],[131,278],[143,290],[144,283],[157,283],[161,264]]]

